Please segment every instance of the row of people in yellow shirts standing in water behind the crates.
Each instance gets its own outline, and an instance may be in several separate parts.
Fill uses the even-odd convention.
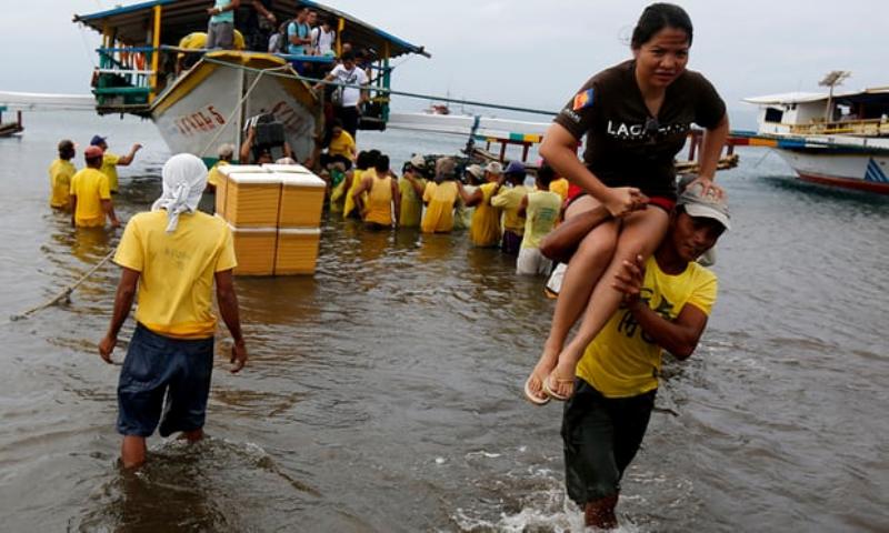
[[[334,139],[346,134],[339,128],[334,125]],[[525,184],[527,170],[520,161],[506,168],[492,161],[460,169],[455,158],[414,154],[399,178],[379,150],[358,152],[353,168],[343,159],[340,153],[329,155],[323,173],[331,188],[331,213],[361,220],[372,230],[468,230],[476,247],[516,255],[518,273],[548,273],[540,242],[558,223],[568,195],[568,181],[557,178],[551,167],[541,165],[531,188]]]

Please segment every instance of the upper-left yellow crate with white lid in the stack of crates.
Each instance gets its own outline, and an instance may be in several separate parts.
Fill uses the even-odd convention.
[[[226,180],[226,220],[236,228],[274,228],[281,178],[271,173],[230,173]]]

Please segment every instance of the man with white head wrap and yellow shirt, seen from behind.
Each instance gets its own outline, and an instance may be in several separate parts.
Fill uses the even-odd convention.
[[[124,467],[144,462],[146,438],[159,422],[162,436],[177,431],[189,441],[203,436],[217,323],[213,282],[219,312],[234,340],[231,372],[247,362],[231,231],[222,219],[197,211],[207,168],[183,153],[170,158],[161,173],[161,197],[152,211],[130,220],[118,245],[114,262],[123,272],[111,324],[99,344],[99,354],[110,363],[138,288],[136,332],[118,384]]]

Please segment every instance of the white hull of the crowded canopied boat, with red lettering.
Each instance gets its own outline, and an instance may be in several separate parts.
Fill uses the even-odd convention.
[[[231,143],[237,158],[246,139],[244,124],[251,117],[272,113],[283,123],[294,158],[304,161],[311,155],[322,125],[321,105],[311,89],[294,79],[252,70],[288,70],[283,61],[246,52],[206,58],[212,61],[196,64],[152,103],[151,118],[172,153],[212,162],[219,145]]]

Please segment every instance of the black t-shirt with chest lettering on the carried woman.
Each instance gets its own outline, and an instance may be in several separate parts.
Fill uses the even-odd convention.
[[[649,197],[676,198],[673,158],[691,123],[716,128],[726,103],[698,72],[686,71],[667,87],[657,117],[646,107],[630,60],[590,78],[556,117],[580,140],[583,162],[608,187],[637,187]]]

